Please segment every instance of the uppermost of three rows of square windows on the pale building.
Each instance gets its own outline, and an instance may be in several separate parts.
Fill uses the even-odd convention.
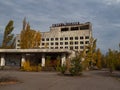
[[[54,40],[57,41],[57,40],[59,40],[59,39],[60,39],[60,40],[63,40],[63,38],[61,37],[61,38],[46,38],[46,41],[50,41],[50,40],[51,40],[51,41],[54,41]],[[64,38],[64,40],[73,40],[73,39],[74,39],[73,37],[69,37],[69,38],[68,38],[68,37],[65,37],[65,38]],[[75,40],[78,40],[78,39],[79,39],[79,37],[75,37]],[[81,36],[80,39],[84,39],[84,37]],[[85,39],[89,39],[89,36],[85,36]],[[42,41],[45,41],[45,38],[42,38]]]

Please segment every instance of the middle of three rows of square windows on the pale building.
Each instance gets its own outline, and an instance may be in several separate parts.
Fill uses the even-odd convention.
[[[80,44],[89,44],[89,41],[85,41],[85,42],[83,42],[83,41],[80,41],[80,42],[78,42],[78,41],[75,41],[75,42],[72,42],[72,41],[70,41],[70,42],[60,42],[60,43],[58,43],[58,42],[55,42],[55,43],[53,43],[53,42],[51,42],[50,44],[51,45],[63,45],[63,44],[65,44],[65,45],[68,45],[68,44],[70,44],[70,45],[73,45],[73,44],[78,44],[78,43],[80,43]],[[49,45],[49,43],[42,43],[42,45]]]

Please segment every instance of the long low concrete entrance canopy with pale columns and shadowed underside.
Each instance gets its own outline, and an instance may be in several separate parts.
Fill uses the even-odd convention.
[[[41,66],[45,66],[47,55],[61,56],[61,65],[67,58],[74,56],[74,51],[68,49],[0,49],[0,66],[10,65],[13,62],[22,66],[27,58],[32,60],[41,60]]]

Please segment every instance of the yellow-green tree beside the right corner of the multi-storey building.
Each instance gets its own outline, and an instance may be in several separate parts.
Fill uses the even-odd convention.
[[[91,37],[89,45],[85,46],[84,50],[80,53],[82,57],[82,66],[85,70],[91,69],[96,63],[96,41],[96,39]]]

